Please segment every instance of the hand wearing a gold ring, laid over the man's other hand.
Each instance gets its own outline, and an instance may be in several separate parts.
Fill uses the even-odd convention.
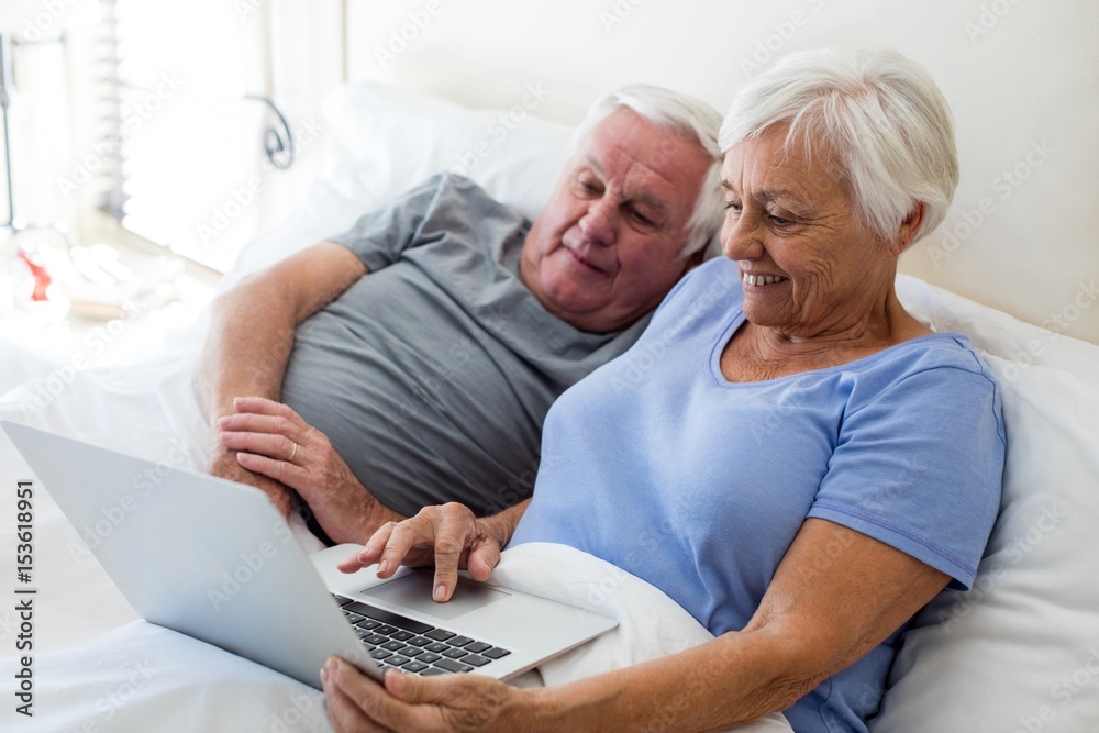
[[[285,404],[263,397],[233,400],[236,414],[218,421],[220,443],[240,465],[297,490],[336,542],[362,542],[382,523],[399,521],[378,503],[321,431]]]

